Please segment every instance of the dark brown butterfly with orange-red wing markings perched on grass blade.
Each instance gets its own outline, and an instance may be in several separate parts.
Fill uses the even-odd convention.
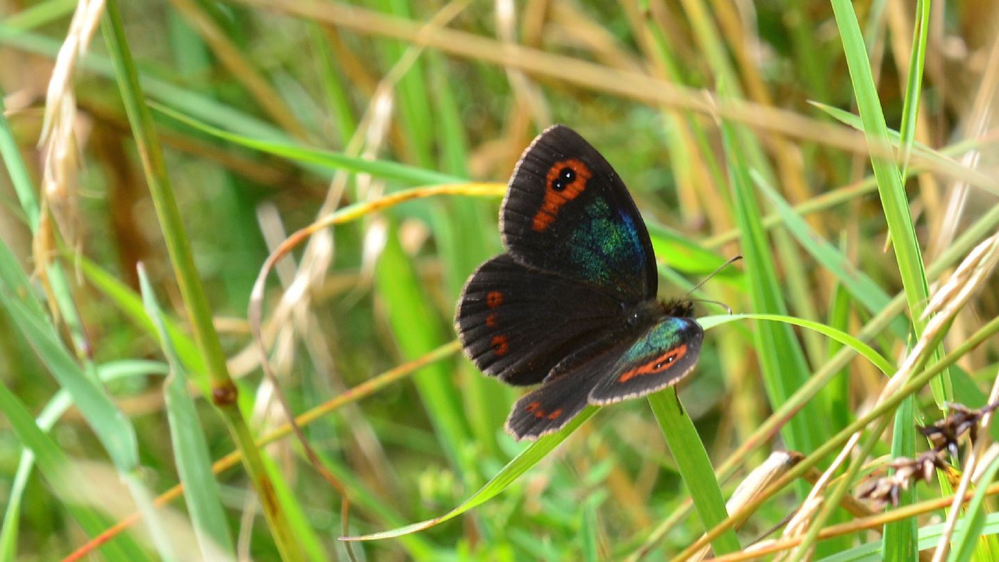
[[[676,384],[703,329],[685,299],[656,300],[652,243],[627,188],[578,133],[554,125],[524,150],[500,207],[506,251],[469,278],[456,312],[466,355],[511,385],[506,431],[536,439],[587,404]]]

